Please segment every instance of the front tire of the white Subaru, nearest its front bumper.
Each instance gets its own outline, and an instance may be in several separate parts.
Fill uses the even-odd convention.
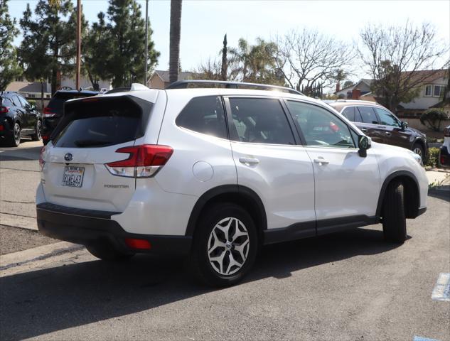
[[[385,240],[403,244],[406,240],[404,188],[400,180],[387,185],[382,208],[382,229]]]

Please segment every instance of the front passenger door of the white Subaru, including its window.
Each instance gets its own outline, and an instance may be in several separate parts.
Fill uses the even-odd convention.
[[[294,100],[286,105],[314,165],[318,234],[374,217],[380,193],[374,153],[361,157],[355,131],[327,109]]]

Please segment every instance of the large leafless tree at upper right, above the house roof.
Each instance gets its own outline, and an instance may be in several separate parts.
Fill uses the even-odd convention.
[[[384,97],[385,105],[395,110],[400,102],[417,97],[419,86],[441,72],[439,60],[449,50],[436,37],[434,26],[368,25],[360,31],[358,54],[374,78],[373,92]],[[438,67],[438,70],[434,70]],[[422,70],[430,70],[423,72]]]

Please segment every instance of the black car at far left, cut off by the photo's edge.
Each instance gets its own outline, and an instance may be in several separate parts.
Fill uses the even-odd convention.
[[[42,115],[17,92],[0,92],[0,141],[17,147],[21,137],[41,139]]]

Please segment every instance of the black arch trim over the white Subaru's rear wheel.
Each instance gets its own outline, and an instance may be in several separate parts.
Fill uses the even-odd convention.
[[[208,202],[213,200],[215,197],[227,194],[242,195],[247,200],[252,200],[252,202],[254,202],[257,206],[259,217],[261,219],[262,226],[260,227],[260,229],[262,230],[267,229],[266,210],[264,208],[264,204],[262,203],[261,198],[259,197],[259,195],[257,195],[257,193],[255,193],[254,190],[242,185],[220,185],[218,187],[211,188],[207,192],[203,193],[203,195],[201,195],[198,198],[197,202],[195,202],[195,205],[191,212],[191,216],[189,217],[188,220],[188,226],[186,227],[185,235],[193,236],[195,226],[198,222],[198,218],[200,217],[200,212],[202,212],[203,208],[205,208],[205,206],[208,205]]]

